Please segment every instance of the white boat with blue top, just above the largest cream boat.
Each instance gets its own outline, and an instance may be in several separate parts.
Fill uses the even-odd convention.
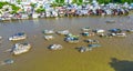
[[[23,32],[17,33],[9,38],[10,41],[23,40],[27,38],[27,34]]]

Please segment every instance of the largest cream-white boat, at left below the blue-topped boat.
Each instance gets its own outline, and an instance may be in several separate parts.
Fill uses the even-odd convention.
[[[25,53],[31,49],[31,44],[29,43],[16,43],[12,52],[14,55]]]

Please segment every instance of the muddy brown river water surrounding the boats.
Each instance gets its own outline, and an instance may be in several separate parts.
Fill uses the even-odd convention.
[[[106,20],[115,20],[115,23],[105,23]],[[0,44],[0,61],[13,59],[13,64],[0,65],[0,71],[116,71],[110,62],[117,60],[133,61],[133,33],[126,38],[99,38],[89,37],[100,41],[101,48],[90,52],[80,53],[75,48],[88,43],[80,37],[80,43],[71,44],[63,41],[63,36],[53,34],[53,40],[43,39],[42,30],[54,31],[69,29],[73,34],[80,34],[81,28],[109,30],[112,28],[133,29],[133,14],[129,17],[83,17],[83,18],[55,18],[34,19],[0,22],[0,36],[3,37]],[[17,32],[25,32],[28,39],[22,41],[9,41],[8,38]],[[20,55],[12,55],[6,50],[17,42],[29,42],[32,49]],[[62,50],[50,51],[50,44],[60,43]]]

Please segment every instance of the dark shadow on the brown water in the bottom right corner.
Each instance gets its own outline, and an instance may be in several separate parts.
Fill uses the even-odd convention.
[[[117,60],[116,58],[112,58],[110,65],[115,71],[133,71],[133,61]]]

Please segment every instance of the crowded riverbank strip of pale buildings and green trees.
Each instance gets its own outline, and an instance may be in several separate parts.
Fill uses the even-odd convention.
[[[0,21],[60,18],[60,17],[88,17],[88,16],[127,16],[133,10],[131,0],[64,0],[53,2],[0,2]]]

